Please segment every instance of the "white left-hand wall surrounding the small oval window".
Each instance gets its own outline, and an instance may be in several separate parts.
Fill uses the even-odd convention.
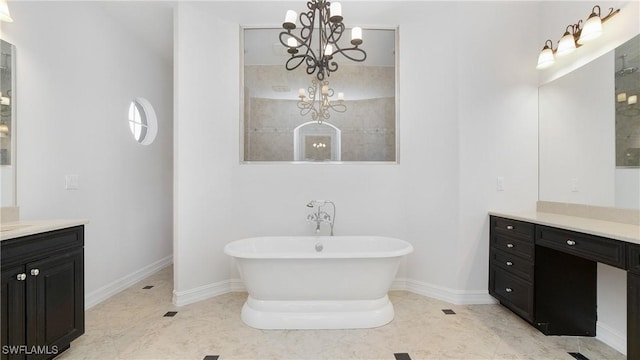
[[[21,218],[89,220],[87,306],[172,253],[171,63],[114,21],[111,4],[12,2],[15,21],[2,25],[17,47]],[[171,26],[168,11],[157,26]],[[146,147],[128,128],[137,96],[158,116]],[[66,174],[78,190],[64,189]]]

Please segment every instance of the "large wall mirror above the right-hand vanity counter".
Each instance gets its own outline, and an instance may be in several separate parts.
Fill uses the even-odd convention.
[[[540,87],[539,200],[640,209],[639,50],[640,35]]]

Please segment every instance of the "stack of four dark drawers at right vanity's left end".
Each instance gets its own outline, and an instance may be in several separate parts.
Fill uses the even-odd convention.
[[[534,316],[534,225],[491,217],[489,293],[528,321]]]

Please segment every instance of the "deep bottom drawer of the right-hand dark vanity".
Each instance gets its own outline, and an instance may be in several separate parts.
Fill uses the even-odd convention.
[[[489,293],[500,303],[523,318],[533,321],[533,285],[509,274],[497,266],[490,266]]]

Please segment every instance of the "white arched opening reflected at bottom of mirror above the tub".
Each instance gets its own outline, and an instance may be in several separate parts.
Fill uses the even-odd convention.
[[[294,161],[340,161],[341,131],[328,122],[306,122],[293,130]]]

